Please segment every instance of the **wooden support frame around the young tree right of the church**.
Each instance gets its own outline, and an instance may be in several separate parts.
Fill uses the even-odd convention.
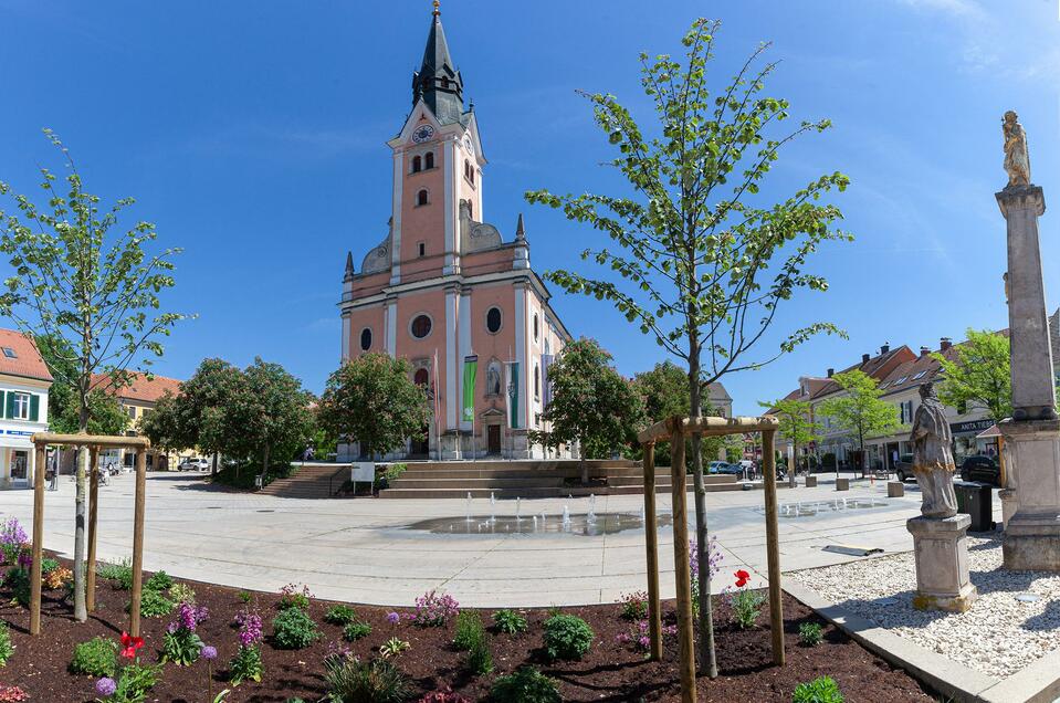
[[[657,422],[638,434],[644,466],[644,541],[648,562],[648,612],[650,659],[662,658],[662,628],[659,604],[659,546],[655,522],[655,442],[670,442],[671,484],[673,487],[673,560],[676,587],[679,669],[681,701],[693,703],[695,691],[695,651],[693,647],[692,581],[689,553],[688,482],[685,473],[686,434],[703,437],[762,433],[763,487],[766,510],[766,553],[769,578],[769,626],[773,639],[773,662],[785,664],[784,609],[780,585],[780,547],[777,510],[776,418],[671,418]]]

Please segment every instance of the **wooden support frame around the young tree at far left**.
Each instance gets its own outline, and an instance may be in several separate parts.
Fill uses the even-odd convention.
[[[54,434],[38,432],[30,438],[35,448],[33,469],[33,564],[30,567],[30,634],[41,632],[41,560],[44,550],[44,462],[51,445],[83,447],[90,452],[88,555],[85,569],[85,606],[95,609],[96,539],[98,537],[99,472],[96,466],[101,449],[130,449],[136,452],[136,503],[133,524],[133,594],[129,608],[129,634],[139,637],[140,596],[144,579],[144,518],[147,501],[147,450],[145,437],[109,437],[103,434]],[[57,470],[57,466],[56,466]]]

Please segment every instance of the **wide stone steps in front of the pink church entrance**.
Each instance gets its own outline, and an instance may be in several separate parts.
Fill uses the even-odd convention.
[[[622,495],[643,493],[643,469],[639,462],[597,460],[589,462],[588,486],[580,484],[581,466],[577,461],[466,461],[409,462],[390,487],[380,491],[384,499],[537,499]],[[743,484],[732,475],[704,476],[707,491],[739,491]],[[689,490],[692,479],[689,478]],[[660,468],[655,490],[671,490],[669,468]]]

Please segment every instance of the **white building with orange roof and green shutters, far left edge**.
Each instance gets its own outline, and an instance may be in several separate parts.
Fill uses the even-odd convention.
[[[30,437],[48,431],[52,375],[33,339],[0,329],[0,487],[28,487],[36,471]]]

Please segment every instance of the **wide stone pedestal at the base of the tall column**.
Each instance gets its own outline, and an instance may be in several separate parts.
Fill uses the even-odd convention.
[[[1005,568],[1060,571],[1060,420],[1005,420],[998,429],[1017,472]]]

